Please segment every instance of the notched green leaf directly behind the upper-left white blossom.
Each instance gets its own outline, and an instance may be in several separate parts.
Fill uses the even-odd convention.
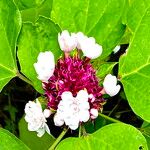
[[[37,62],[38,54],[41,51],[50,50],[55,56],[55,60],[60,57],[61,50],[57,42],[60,28],[50,19],[40,17],[35,25],[24,23],[18,42],[18,57],[21,65],[21,72],[29,78],[34,87],[42,91],[41,81],[37,79],[37,74],[33,64]]]

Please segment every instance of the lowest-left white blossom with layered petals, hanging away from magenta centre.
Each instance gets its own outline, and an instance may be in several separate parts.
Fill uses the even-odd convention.
[[[48,125],[46,124],[45,116],[42,112],[42,107],[38,99],[36,103],[29,101],[25,106],[25,120],[28,123],[29,131],[36,131],[37,136],[41,137],[45,131],[50,134]]]

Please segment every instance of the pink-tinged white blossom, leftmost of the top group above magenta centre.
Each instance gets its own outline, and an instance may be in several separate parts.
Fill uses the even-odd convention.
[[[58,43],[61,50],[65,52],[70,52],[76,48],[76,39],[74,36],[70,36],[67,30],[64,30],[61,34],[58,34]]]

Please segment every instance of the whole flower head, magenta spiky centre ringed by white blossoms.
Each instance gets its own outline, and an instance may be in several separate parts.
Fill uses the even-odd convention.
[[[31,102],[26,105],[25,112],[28,116],[26,118],[30,118],[26,121],[30,131],[48,132],[45,118],[50,116],[50,110],[55,113],[56,126],[66,125],[76,130],[80,123],[97,118],[98,111],[102,110],[105,103],[103,94],[114,96],[120,90],[117,78],[111,74],[105,77],[103,87],[99,85],[96,70],[90,60],[101,55],[102,46],[97,44],[93,37],[87,37],[81,32],[69,34],[65,30],[58,34],[58,43],[64,52],[64,57],[55,64],[50,51],[41,52],[37,63],[34,64],[48,101],[45,113],[42,109],[36,109],[36,112],[33,110],[33,114],[40,114],[38,116],[28,114],[31,109],[27,108]],[[70,54],[72,50],[76,50],[73,56]],[[32,124],[34,120],[39,122],[35,121]]]

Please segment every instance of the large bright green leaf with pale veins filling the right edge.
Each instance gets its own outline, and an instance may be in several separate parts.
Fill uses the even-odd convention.
[[[145,1],[138,4],[145,9],[129,12],[133,18],[135,13],[140,15],[134,18],[139,20],[136,30],[127,52],[120,58],[119,76],[133,111],[150,122],[150,0],[149,7]]]

